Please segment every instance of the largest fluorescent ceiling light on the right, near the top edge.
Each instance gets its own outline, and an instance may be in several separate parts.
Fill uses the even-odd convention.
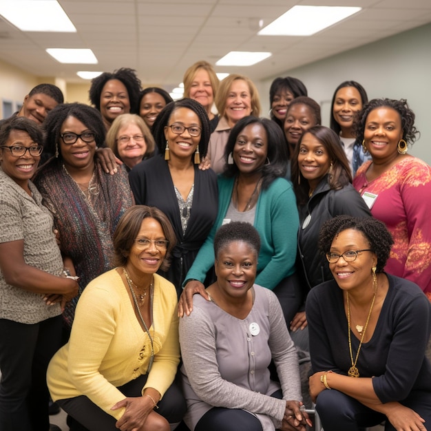
[[[293,6],[257,34],[271,36],[311,36],[359,12],[361,8],[338,6]]]

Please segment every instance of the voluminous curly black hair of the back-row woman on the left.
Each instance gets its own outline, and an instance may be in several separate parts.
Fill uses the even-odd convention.
[[[111,81],[112,79],[118,79],[118,81],[121,81],[125,85],[130,101],[130,114],[138,114],[141,83],[138,76],[136,76],[136,70],[130,69],[129,67],[121,67],[118,70],[114,70],[113,73],[103,72],[103,74],[92,79],[92,85],[88,92],[92,105],[94,105],[98,111],[101,110],[101,94],[103,87],[107,81]]]

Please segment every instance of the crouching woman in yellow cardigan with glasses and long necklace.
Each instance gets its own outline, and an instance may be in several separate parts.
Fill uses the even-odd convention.
[[[48,368],[52,399],[70,415],[71,431],[169,431],[181,421],[176,290],[156,274],[175,238],[154,207],[136,205],[120,219],[118,267],[85,288],[70,341]]]

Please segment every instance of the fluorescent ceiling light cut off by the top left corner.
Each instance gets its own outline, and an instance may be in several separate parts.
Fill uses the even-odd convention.
[[[23,32],[76,33],[55,0],[0,0],[0,15]]]

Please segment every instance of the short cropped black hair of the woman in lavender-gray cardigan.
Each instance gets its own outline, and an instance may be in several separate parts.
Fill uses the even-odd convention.
[[[223,224],[218,229],[214,237],[214,255],[215,260],[224,247],[231,244],[231,242],[242,241],[249,244],[255,251],[256,257],[260,251],[260,236],[255,227],[247,222],[231,222]]]

